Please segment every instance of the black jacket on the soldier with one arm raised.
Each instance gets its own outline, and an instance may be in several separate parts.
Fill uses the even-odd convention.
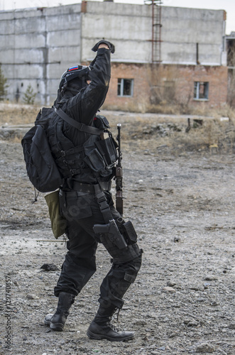
[[[83,124],[88,126],[94,126],[94,116],[104,103],[106,94],[109,89],[111,65],[110,65],[110,50],[106,48],[100,48],[97,50],[97,57],[93,60],[91,65],[92,70],[89,72],[90,82],[87,87],[84,87],[75,96],[69,97],[65,92],[65,97],[62,98],[59,104],[55,104],[55,107],[60,107],[62,111]],[[71,95],[72,96],[72,95]],[[73,147],[82,147],[84,143],[94,138],[89,133],[78,131],[67,122],[58,118],[55,114],[50,119],[48,126],[48,140],[52,148],[55,158],[62,174],[65,173],[65,168],[69,161],[68,171],[72,171],[72,175],[65,175],[64,188],[72,188],[72,182],[79,181],[84,183],[96,183],[97,176],[92,173],[92,170],[88,169],[86,163],[84,163],[84,153],[79,152],[74,155],[65,157],[63,159],[60,156],[61,151],[68,151]],[[77,173],[76,173],[77,170]],[[79,171],[80,170],[80,171]],[[110,176],[111,178],[111,176]],[[102,180],[110,180],[109,177],[102,178]]]

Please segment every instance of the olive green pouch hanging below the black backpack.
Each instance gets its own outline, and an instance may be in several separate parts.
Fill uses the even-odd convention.
[[[55,239],[65,233],[67,226],[67,221],[60,214],[60,197],[59,190],[50,192],[50,194],[45,195],[45,201],[48,204],[48,210],[50,215],[51,228]]]

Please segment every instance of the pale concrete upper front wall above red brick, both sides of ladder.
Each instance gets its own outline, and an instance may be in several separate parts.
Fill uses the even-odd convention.
[[[161,62],[197,64],[198,43],[200,64],[226,65],[224,18],[224,10],[162,6]],[[151,62],[152,6],[87,1],[82,13],[82,60],[90,59],[89,48],[99,38],[116,45],[114,62]]]

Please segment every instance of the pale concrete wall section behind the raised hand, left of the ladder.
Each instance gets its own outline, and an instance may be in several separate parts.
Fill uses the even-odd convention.
[[[149,6],[87,1],[82,13],[82,60],[91,59],[89,48],[105,38],[116,47],[114,62],[149,62],[150,21]]]

